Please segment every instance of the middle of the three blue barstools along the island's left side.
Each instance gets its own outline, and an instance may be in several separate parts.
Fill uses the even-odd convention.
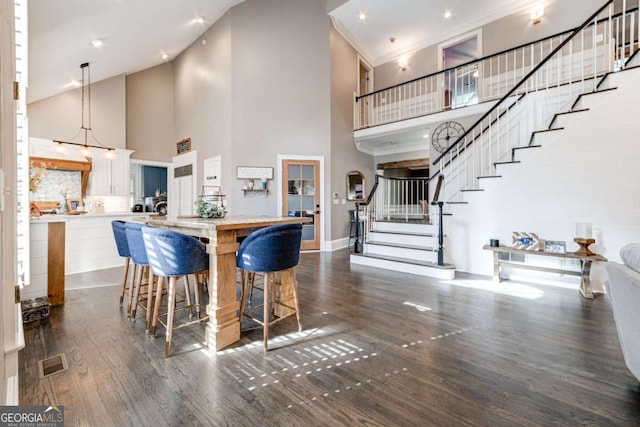
[[[140,297],[142,295],[143,299],[140,307],[142,307],[146,311],[145,331],[149,332],[151,330],[151,314],[153,313],[152,307],[154,277],[153,272],[148,268],[149,259],[147,257],[147,251],[144,247],[144,240],[142,239],[142,227],[145,227],[145,225],[142,223],[125,223],[125,232],[127,235],[127,243],[129,245],[129,254],[131,255],[131,260],[134,264],[135,276],[133,280],[132,291],[130,292],[131,319],[133,321],[135,321],[136,319],[136,310],[138,308],[138,303],[140,302]],[[143,283],[145,270],[148,270],[146,294],[141,291],[142,287],[145,286],[145,284]],[[187,295],[189,295],[188,292]]]

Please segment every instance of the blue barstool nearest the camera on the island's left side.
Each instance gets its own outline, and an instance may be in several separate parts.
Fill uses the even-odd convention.
[[[156,295],[162,295],[164,279],[169,279],[167,290],[167,321],[166,323],[162,323],[160,320],[161,298],[158,297],[156,298],[153,311],[153,324],[151,329],[151,335],[155,336],[158,322],[162,323],[166,328],[165,357],[169,357],[174,329],[179,329],[208,319],[208,316],[200,317],[198,276],[205,274],[207,270],[209,270],[209,255],[207,254],[204,243],[194,237],[176,231],[143,227],[142,235],[149,259],[149,266],[151,267],[152,273],[158,276]],[[186,286],[188,283],[187,276],[189,274],[193,274],[196,278],[195,303],[197,319],[184,322],[174,327],[173,318],[175,314],[177,280],[179,277],[184,276]]]

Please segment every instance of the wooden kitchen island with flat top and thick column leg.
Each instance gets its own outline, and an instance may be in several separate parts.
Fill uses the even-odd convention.
[[[240,340],[240,301],[236,292],[236,251],[238,238],[272,225],[303,223],[308,218],[228,216],[218,219],[200,217],[150,218],[140,221],[160,228],[205,238],[209,254],[209,323],[205,343],[210,349],[221,350]],[[282,283],[281,299],[287,303],[288,283]]]

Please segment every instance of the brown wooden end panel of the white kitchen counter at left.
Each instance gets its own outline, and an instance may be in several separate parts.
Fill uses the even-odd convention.
[[[47,247],[47,294],[49,304],[64,304],[65,223],[50,222]]]

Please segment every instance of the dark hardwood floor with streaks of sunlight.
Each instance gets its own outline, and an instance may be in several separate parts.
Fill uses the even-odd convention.
[[[298,279],[303,332],[289,318],[266,354],[260,329],[214,354],[195,325],[169,359],[117,286],[68,290],[25,328],[20,403],[64,405],[69,426],[640,425],[606,296],[350,266],[346,250],[303,254]],[[69,369],[39,380],[58,353]]]

